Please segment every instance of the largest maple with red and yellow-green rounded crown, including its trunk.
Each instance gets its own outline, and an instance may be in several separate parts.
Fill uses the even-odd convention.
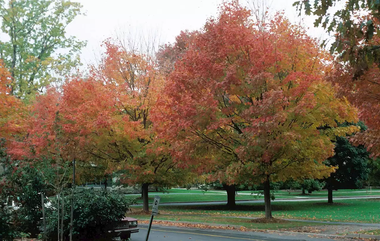
[[[335,167],[331,140],[357,128],[355,109],[336,98],[323,77],[329,55],[299,26],[281,15],[258,29],[250,11],[237,1],[224,3],[217,19],[207,21],[165,85],[153,118],[170,142],[174,158],[217,164],[229,156],[234,170],[264,183],[265,217],[271,218],[270,181],[322,178]],[[155,115],[154,115],[155,116]],[[320,129],[325,125],[332,129]],[[220,159],[219,159],[220,160]]]

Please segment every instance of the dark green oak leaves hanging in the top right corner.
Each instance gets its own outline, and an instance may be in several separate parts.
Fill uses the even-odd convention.
[[[331,12],[332,7],[336,5],[342,8],[338,8],[335,13]],[[304,11],[307,15],[315,15],[317,18],[314,26],[322,26],[335,35],[331,53],[338,52],[344,60],[363,68],[370,66],[369,63],[380,61],[379,45],[370,43],[374,35],[379,35],[379,1],[302,0],[294,2],[293,6],[297,6],[300,14]],[[360,12],[365,13],[367,17],[361,18]],[[360,40],[364,41],[359,43]],[[358,71],[363,71],[363,68],[358,68]]]

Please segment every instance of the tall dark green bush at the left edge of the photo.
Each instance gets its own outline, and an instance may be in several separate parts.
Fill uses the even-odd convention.
[[[4,140],[0,139],[0,219],[2,225],[0,232],[7,229],[7,225],[12,223],[12,227],[7,229],[8,233],[28,234],[34,238],[40,233],[39,222],[42,218],[41,193],[52,192],[51,185],[46,183],[41,169],[43,163],[35,163],[33,166],[28,160],[11,161],[6,154]],[[45,168],[46,169],[46,168]],[[7,206],[12,201],[17,206],[17,210],[11,210]],[[7,205],[4,205],[7,203]],[[3,206],[2,206],[3,205]],[[9,209],[9,210],[8,210]],[[1,235],[0,235],[1,240]]]

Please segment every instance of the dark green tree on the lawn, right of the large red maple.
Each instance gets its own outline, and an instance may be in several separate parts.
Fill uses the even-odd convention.
[[[352,124],[342,123],[341,127],[347,127]],[[361,131],[366,130],[363,122],[359,121]],[[325,178],[328,189],[328,203],[332,203],[332,190],[338,189],[356,189],[363,186],[370,169],[368,168],[369,153],[363,145],[354,146],[347,137],[340,136],[335,141],[335,154],[325,161],[326,165],[338,166],[336,172],[331,173]]]

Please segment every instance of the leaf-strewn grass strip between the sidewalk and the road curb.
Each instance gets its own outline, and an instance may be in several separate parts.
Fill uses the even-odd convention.
[[[135,217],[137,219],[149,219],[150,215],[133,215],[128,214],[128,216]],[[294,222],[285,221],[281,223],[255,223],[249,219],[244,218],[231,218],[231,217],[215,217],[215,216],[186,216],[186,215],[165,215],[158,214],[155,216],[155,220],[166,220],[166,221],[184,221],[184,222],[204,222],[210,224],[230,224],[239,225],[246,228],[253,229],[271,229],[276,230],[279,228],[293,228],[302,226],[315,226],[316,223],[311,222]]]

